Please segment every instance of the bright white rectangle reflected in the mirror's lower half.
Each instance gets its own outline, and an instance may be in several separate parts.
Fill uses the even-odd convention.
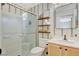
[[[71,28],[71,15],[61,16],[59,19],[60,28]]]

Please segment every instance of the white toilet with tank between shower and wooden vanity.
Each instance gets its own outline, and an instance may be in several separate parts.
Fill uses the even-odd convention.
[[[39,39],[39,47],[34,47],[31,50],[31,56],[41,56],[44,52],[44,49],[47,47],[48,39],[40,38]]]

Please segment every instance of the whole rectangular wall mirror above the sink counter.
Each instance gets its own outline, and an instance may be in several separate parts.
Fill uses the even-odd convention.
[[[56,28],[78,27],[78,5],[67,4],[56,8]]]

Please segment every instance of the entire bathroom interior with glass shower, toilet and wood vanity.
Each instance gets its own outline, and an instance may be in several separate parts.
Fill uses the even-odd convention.
[[[78,3],[0,3],[0,55],[79,56],[78,10]]]

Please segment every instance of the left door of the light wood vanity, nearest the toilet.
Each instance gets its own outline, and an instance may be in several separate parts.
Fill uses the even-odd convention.
[[[48,55],[49,56],[60,56],[62,54],[61,52],[61,46],[56,44],[48,44]]]

